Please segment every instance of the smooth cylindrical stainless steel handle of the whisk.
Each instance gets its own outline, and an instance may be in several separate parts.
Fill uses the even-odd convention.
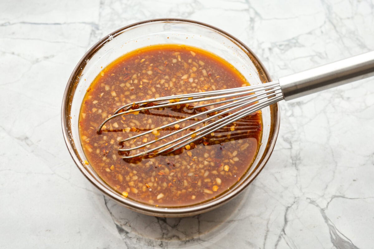
[[[279,78],[284,99],[291,100],[374,76],[374,51]]]

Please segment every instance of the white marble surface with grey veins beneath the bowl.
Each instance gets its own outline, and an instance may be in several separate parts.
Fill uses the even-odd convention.
[[[0,248],[373,248],[374,79],[281,102],[271,159],[239,197],[188,218],[104,197],[65,147],[80,57],[151,18],[230,32],[273,78],[374,50],[373,0],[0,1]]]

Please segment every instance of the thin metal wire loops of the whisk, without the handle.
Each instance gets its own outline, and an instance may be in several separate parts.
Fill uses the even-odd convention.
[[[221,100],[214,102],[214,100],[219,99]],[[139,102],[129,103],[118,108],[112,116],[102,122],[102,124],[98,128],[98,133],[102,132],[102,128],[109,120],[134,112],[144,113],[145,111],[151,109],[162,110],[164,108],[172,108],[173,106],[177,105],[187,106],[191,103],[196,102],[199,103],[199,105],[193,106],[193,108],[196,110],[206,108],[208,106],[216,106],[212,109],[206,109],[205,111],[187,116],[186,118],[178,119],[177,121],[162,125],[160,127],[157,127],[156,129],[144,131],[140,134],[119,141],[120,144],[123,144],[125,141],[134,140],[141,136],[145,136],[147,134],[153,133],[155,130],[163,130],[165,128],[172,127],[188,120],[196,121],[193,124],[186,125],[185,127],[180,129],[176,129],[175,131],[166,134],[165,136],[159,138],[156,137],[154,140],[143,143],[139,146],[119,149],[120,152],[126,152],[125,155],[122,156],[125,159],[141,157],[144,155],[149,155],[151,153],[160,154],[165,152],[174,152],[178,149],[183,148],[187,144],[191,144],[194,141],[200,140],[213,133],[214,131],[217,131],[239,119],[242,119],[245,116],[250,115],[251,113],[257,112],[266,106],[279,102],[282,99],[283,94],[281,87],[278,81],[275,81],[260,85],[214,90],[202,93],[178,94],[174,96],[142,100]],[[213,115],[208,115],[212,113]],[[208,117],[201,120],[197,119],[197,117],[202,115],[208,115]],[[215,118],[217,119],[214,120]],[[197,128],[196,130],[193,130],[193,127],[199,124],[203,124],[203,126]],[[193,131],[181,137],[178,137],[177,139],[166,141],[166,138],[175,136],[178,133],[187,131],[189,129]],[[166,142],[154,148],[148,149],[151,144],[156,143],[157,141]],[[130,154],[131,151],[140,150],[143,148],[145,149],[143,152]]]

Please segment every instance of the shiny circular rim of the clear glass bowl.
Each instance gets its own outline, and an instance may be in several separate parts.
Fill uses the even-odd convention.
[[[273,133],[269,134],[270,137],[272,137],[272,140],[270,140],[270,144],[267,144],[267,149],[269,150],[268,153],[266,153],[262,160],[260,161],[260,164],[257,166],[257,169],[254,170],[254,172],[251,174],[250,178],[244,181],[242,184],[238,185],[233,191],[227,192],[220,196],[220,198],[212,200],[210,202],[205,202],[205,203],[198,203],[197,205],[191,205],[191,206],[184,206],[184,207],[171,207],[171,208],[163,208],[163,207],[155,207],[151,205],[146,205],[140,202],[136,201],[126,201],[127,199],[124,199],[122,197],[119,197],[115,195],[112,192],[107,191],[101,183],[99,183],[94,177],[92,177],[91,174],[86,170],[85,166],[82,164],[82,162],[79,160],[77,157],[73,146],[69,143],[69,136],[68,136],[68,119],[65,118],[67,117],[67,111],[69,110],[68,108],[68,94],[71,92],[72,87],[76,81],[76,78],[80,75],[80,72],[82,72],[83,68],[85,67],[85,63],[88,60],[88,58],[91,58],[97,50],[101,48],[102,45],[107,43],[108,41],[112,40],[114,37],[116,37],[119,34],[122,34],[126,29],[138,26],[138,25],[143,25],[143,24],[149,24],[153,22],[178,22],[178,23],[188,23],[188,24],[197,24],[204,26],[209,29],[213,29],[214,31],[223,34],[227,38],[231,39],[234,41],[234,43],[239,44],[239,46],[242,46],[243,49],[245,49],[246,53],[249,53],[254,59],[255,63],[258,63],[258,66],[261,67],[263,70],[266,78],[269,81],[272,81],[269,72],[266,70],[264,67],[263,63],[261,60],[255,55],[255,53],[249,49],[242,41],[234,37],[233,35],[227,33],[226,31],[223,31],[222,29],[216,28],[212,25],[205,24],[203,22],[198,22],[194,20],[189,20],[189,19],[179,19],[179,18],[159,18],[159,19],[150,19],[150,20],[145,20],[141,22],[135,22],[133,24],[127,25],[125,27],[119,28],[116,31],[111,32],[110,34],[106,35],[105,37],[101,38],[98,42],[96,42],[86,53],[83,55],[83,57],[79,60],[77,63],[76,67],[74,68],[73,72],[70,75],[70,78],[68,80],[67,86],[64,91],[63,99],[62,99],[62,107],[61,107],[61,125],[62,125],[62,133],[64,135],[64,140],[65,144],[68,148],[68,151],[73,158],[75,164],[77,167],[80,169],[83,175],[96,187],[98,188],[101,192],[103,192],[106,196],[111,197],[113,200],[116,202],[120,203],[121,205],[125,205],[127,208],[141,212],[143,214],[147,215],[153,215],[153,216],[161,216],[161,217],[182,217],[182,216],[190,216],[190,215],[196,215],[200,214],[202,212],[206,212],[209,210],[212,210],[214,208],[217,208],[218,206],[223,205],[226,203],[228,200],[232,199],[234,196],[237,194],[241,193],[243,189],[245,189],[256,177],[257,175],[261,172],[261,170],[264,168],[266,165],[267,161],[270,158],[270,155],[273,152],[276,140],[278,138],[278,132],[279,132],[279,126],[280,126],[280,110],[279,110],[279,105],[278,103],[275,103],[271,105],[271,108],[274,109],[275,113],[275,119],[276,122],[274,124],[274,129]],[[74,89],[73,89],[74,90]]]

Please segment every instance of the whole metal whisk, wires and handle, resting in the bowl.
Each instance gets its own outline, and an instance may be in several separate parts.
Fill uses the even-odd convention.
[[[278,81],[270,83],[231,88],[226,90],[159,97],[130,103],[120,107],[112,116],[105,119],[105,121],[102,122],[98,128],[98,133],[101,133],[102,127],[105,125],[105,123],[113,118],[116,118],[117,116],[130,113],[137,114],[149,109],[162,109],[177,105],[181,106],[198,103],[193,108],[204,111],[198,112],[186,118],[178,119],[177,121],[145,131],[143,133],[139,133],[135,136],[120,141],[121,144],[125,141],[129,141],[146,134],[151,133],[156,135],[156,139],[141,144],[140,146],[133,148],[120,148],[119,151],[123,152],[122,157],[126,159],[150,154],[158,155],[166,152],[174,152],[188,146],[194,141],[202,139],[214,131],[217,131],[239,119],[244,118],[245,116],[250,115],[251,113],[259,111],[262,108],[283,99],[286,101],[295,99],[371,76],[374,76],[374,51],[281,77]],[[207,106],[213,106],[213,108],[206,109]],[[197,117],[201,115],[207,115],[208,117],[201,120],[197,119]],[[217,119],[214,120],[215,118]],[[186,122],[187,120],[197,121],[194,124],[187,125],[180,129],[175,129],[175,131],[165,136],[157,137],[159,136],[160,130],[168,127],[176,127],[176,125],[177,127],[180,127],[179,124]],[[166,141],[166,138],[176,136],[182,131],[187,131],[198,124],[204,125],[188,134],[178,137],[177,139]],[[145,149],[143,152],[130,154],[130,152],[133,150],[148,148],[151,144],[156,143],[157,141],[166,142],[151,149]]]

